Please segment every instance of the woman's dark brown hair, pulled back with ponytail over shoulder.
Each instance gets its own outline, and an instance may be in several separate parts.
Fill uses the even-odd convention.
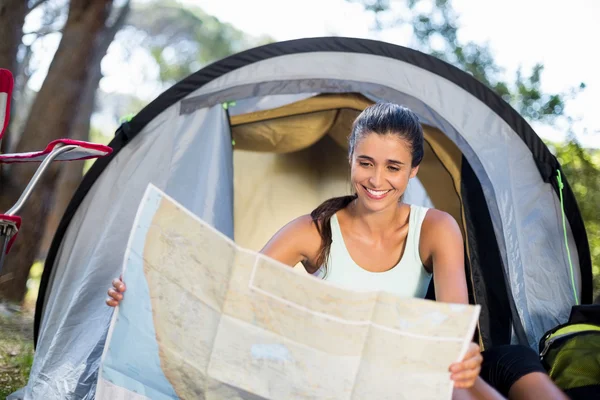
[[[423,128],[417,115],[408,108],[392,103],[377,103],[360,113],[352,125],[352,132],[348,138],[348,157],[350,159],[352,159],[356,143],[371,133],[398,135],[407,141],[411,146],[413,168],[423,160]],[[357,197],[357,194],[334,197],[326,200],[310,213],[321,236],[321,247],[315,265],[312,266],[312,271],[308,271],[309,273],[315,273],[321,267],[327,273],[327,261],[332,242],[331,217],[339,210],[346,208]]]

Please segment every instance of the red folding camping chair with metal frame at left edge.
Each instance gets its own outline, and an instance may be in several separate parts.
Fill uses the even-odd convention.
[[[10,98],[14,80],[11,72],[0,68],[0,144],[10,117]],[[40,177],[48,169],[52,161],[74,161],[98,158],[109,155],[112,149],[96,143],[80,140],[58,139],[50,142],[42,151],[17,154],[0,154],[0,163],[40,162],[40,166],[21,193],[15,205],[4,214],[0,214],[0,271],[4,257],[10,251],[19,228],[21,217],[17,214],[29,198]]]

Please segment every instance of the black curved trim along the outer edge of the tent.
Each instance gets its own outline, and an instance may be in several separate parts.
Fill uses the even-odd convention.
[[[298,39],[246,50],[210,64],[178,82],[148,104],[131,121],[123,124],[117,130],[115,138],[110,143],[110,146],[113,148],[113,153],[108,157],[98,159],[87,172],[79,185],[79,188],[73,195],[58,226],[56,234],[54,235],[54,239],[46,257],[36,303],[34,345],[37,345],[47,287],[52,276],[52,267],[67,227],[96,179],[102,174],[104,168],[106,168],[113,157],[127,145],[127,142],[135,137],[146,124],[165,109],[208,82],[211,82],[228,72],[269,58],[308,52],[361,53],[393,58],[423,68],[455,83],[494,110],[494,112],[506,121],[506,123],[521,137],[523,142],[531,150],[542,178],[545,182],[551,182],[555,191],[558,193],[558,185],[556,184],[555,177],[556,171],[560,169],[560,165],[542,140],[531,129],[529,124],[527,124],[527,122],[512,107],[502,100],[500,96],[486,87],[483,83],[440,59],[389,43],[343,37]],[[581,299],[584,304],[591,303],[592,267],[587,235],[575,196],[567,180],[563,178],[563,181],[565,183],[563,192],[565,214],[571,226],[579,253],[582,278]]]

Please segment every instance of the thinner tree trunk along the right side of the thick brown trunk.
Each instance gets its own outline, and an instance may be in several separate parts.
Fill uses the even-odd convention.
[[[90,120],[96,103],[96,91],[102,79],[102,68],[100,63],[108,51],[108,47],[115,38],[117,32],[125,23],[125,19],[129,14],[130,2],[123,5],[115,22],[106,27],[102,35],[99,37],[98,45],[95,50],[94,57],[90,64],[90,71],[84,87],[82,99],[79,102],[77,115],[71,129],[71,139],[88,140],[90,133]],[[56,191],[54,194],[54,204],[48,214],[46,220],[46,231],[41,242],[38,257],[46,258],[46,254],[52,245],[54,233],[60,224],[60,220],[73,197],[81,179],[83,177],[83,161],[72,161],[61,166]]]

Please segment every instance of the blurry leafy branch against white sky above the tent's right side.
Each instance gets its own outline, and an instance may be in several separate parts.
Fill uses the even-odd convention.
[[[502,79],[505,71],[496,64],[489,44],[473,41],[462,43],[458,39],[459,15],[452,7],[451,0],[427,0],[433,7],[425,8],[426,11],[418,7],[427,3],[425,0],[409,0],[406,7],[399,7],[400,2],[347,1],[361,3],[366,10],[374,12],[377,29],[402,24],[412,27],[419,50],[471,74],[530,121],[553,122],[556,117],[563,116],[565,99],[585,88],[585,84],[580,83],[570,93],[542,92],[541,75],[544,67],[541,64],[535,65],[529,74],[519,70],[514,82],[505,82]],[[390,13],[397,15],[390,18]],[[388,21],[387,24],[382,22],[384,19]]]

